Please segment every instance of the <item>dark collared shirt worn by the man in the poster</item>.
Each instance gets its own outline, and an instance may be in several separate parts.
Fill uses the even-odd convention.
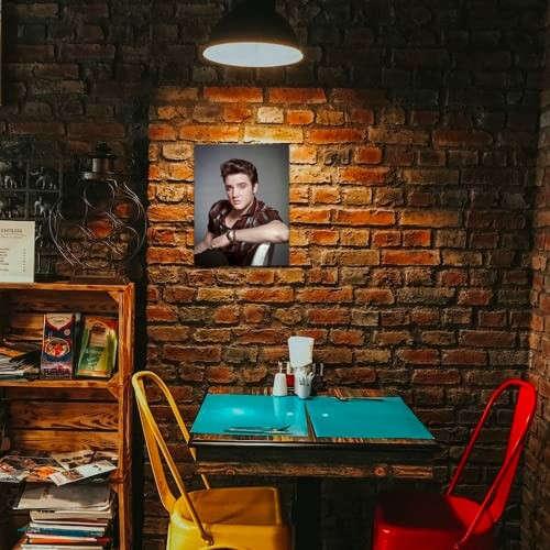
[[[230,229],[249,229],[265,226],[271,221],[280,219],[277,210],[266,206],[263,201],[254,199],[251,207],[244,212],[231,228],[226,226],[226,218],[231,212],[229,200],[219,200],[208,213],[208,231],[215,237],[227,233]],[[226,249],[220,249],[227,256],[229,265],[250,265],[258,243],[238,242]]]

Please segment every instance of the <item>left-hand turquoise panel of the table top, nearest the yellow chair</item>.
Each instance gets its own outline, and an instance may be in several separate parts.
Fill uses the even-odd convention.
[[[305,402],[297,397],[208,394],[191,433],[262,435],[266,428],[287,426],[285,436],[308,435]]]

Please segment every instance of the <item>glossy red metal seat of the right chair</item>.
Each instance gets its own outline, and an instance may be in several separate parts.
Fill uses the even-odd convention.
[[[421,492],[381,495],[375,509],[375,550],[452,550],[464,536],[480,505],[460,496]],[[484,514],[464,549],[493,546],[493,519]]]

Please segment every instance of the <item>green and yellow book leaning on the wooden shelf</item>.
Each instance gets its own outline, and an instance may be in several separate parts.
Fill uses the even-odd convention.
[[[117,362],[117,326],[116,317],[85,316],[77,376],[112,376]]]

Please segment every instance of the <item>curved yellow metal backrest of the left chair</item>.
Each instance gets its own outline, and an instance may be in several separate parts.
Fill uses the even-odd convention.
[[[177,488],[179,490],[179,496],[187,504],[189,514],[193,517],[193,520],[197,529],[199,530],[201,538],[208,544],[212,544],[213,540],[205,531],[202,527],[200,518],[197,515],[197,510],[195,509],[195,506],[193,505],[193,502],[189,498],[189,495],[182,480],[182,476],[179,475],[176,463],[174,462],[174,459],[168,450],[168,446],[166,444],[166,441],[164,440],[161,430],[158,429],[158,425],[155,418],[153,417],[153,414],[151,413],[151,408],[148,406],[147,396],[145,392],[145,384],[144,384],[145,381],[148,381],[153,386],[156,386],[168,402],[172,414],[176,419],[176,422],[179,427],[179,430],[186,443],[188,443],[189,441],[189,431],[187,430],[184,420],[182,419],[182,415],[179,414],[179,410],[176,406],[176,402],[174,400],[170,391],[168,389],[166,384],[161,380],[161,377],[150,371],[141,371],[139,373],[135,373],[132,376],[132,386],[135,393],[135,400],[138,403],[138,410],[140,413],[140,419],[143,427],[143,436],[145,438],[145,444],[147,447],[147,452],[151,460],[151,468],[153,470],[156,488],[158,490],[158,495],[161,497],[163,506],[169,514],[172,514],[172,512],[174,510],[174,505],[176,503],[176,497],[169,490],[168,482],[166,480],[166,472],[163,465],[164,463],[166,463],[174,481],[176,482]],[[195,450],[189,449],[189,452],[191,453],[191,457],[195,460]],[[210,488],[208,480],[202,475],[201,477],[206,487]]]

